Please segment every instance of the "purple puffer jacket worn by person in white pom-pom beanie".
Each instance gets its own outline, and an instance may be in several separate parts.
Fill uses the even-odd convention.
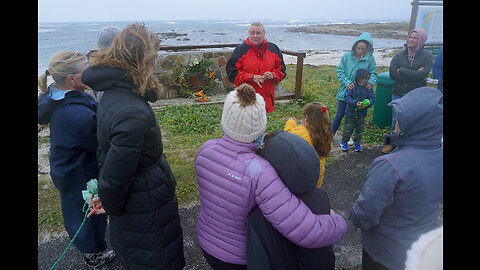
[[[300,246],[317,248],[339,242],[347,230],[342,216],[314,215],[290,192],[272,165],[255,154],[256,148],[256,143],[225,135],[198,150],[200,246],[222,261],[247,264],[247,215],[257,204],[279,232]]]

